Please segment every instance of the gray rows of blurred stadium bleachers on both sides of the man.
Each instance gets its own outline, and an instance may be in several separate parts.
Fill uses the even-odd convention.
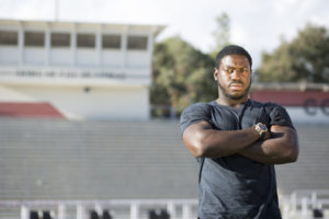
[[[197,198],[198,166],[177,120],[0,122],[2,203]],[[329,189],[329,124],[296,124],[296,129],[299,159],[276,165],[280,194]]]

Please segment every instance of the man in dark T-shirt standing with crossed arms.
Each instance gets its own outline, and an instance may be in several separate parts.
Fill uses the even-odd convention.
[[[218,99],[181,115],[183,142],[201,164],[201,219],[281,219],[274,164],[297,160],[297,134],[282,106],[249,99],[251,66],[245,48],[223,48]]]

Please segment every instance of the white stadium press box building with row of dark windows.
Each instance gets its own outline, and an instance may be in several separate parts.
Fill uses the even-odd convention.
[[[149,118],[161,25],[0,20],[2,116]]]

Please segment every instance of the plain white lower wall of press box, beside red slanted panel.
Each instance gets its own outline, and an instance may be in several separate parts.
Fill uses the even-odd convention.
[[[11,97],[0,94],[0,102],[50,103],[68,119],[134,119],[149,118],[147,87],[10,87],[2,88]],[[88,90],[88,91],[87,91]]]

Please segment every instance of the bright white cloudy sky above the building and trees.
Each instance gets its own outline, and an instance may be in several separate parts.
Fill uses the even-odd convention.
[[[230,42],[251,54],[254,68],[262,51],[271,53],[282,38],[292,41],[307,23],[329,28],[327,0],[0,0],[0,19],[166,25],[157,42],[179,35],[204,53],[215,45],[216,18],[225,12]]]

